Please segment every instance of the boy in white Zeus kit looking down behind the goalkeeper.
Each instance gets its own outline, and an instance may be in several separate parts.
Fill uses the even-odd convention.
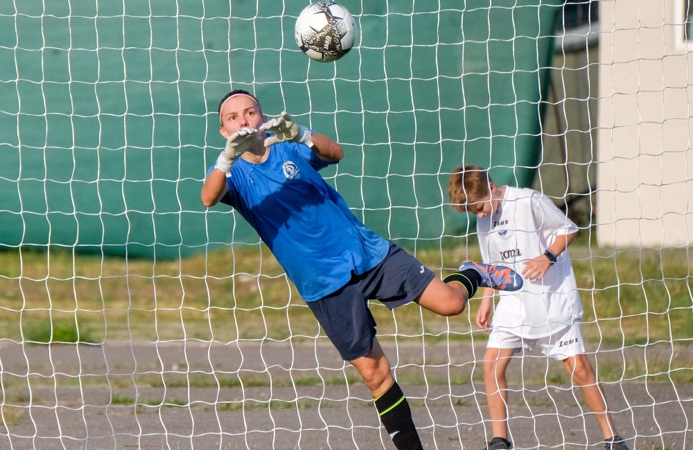
[[[489,450],[512,449],[508,439],[507,381],[511,357],[538,345],[547,357],[563,361],[580,386],[604,435],[606,450],[627,450],[616,433],[606,399],[585,354],[577,291],[568,245],[577,226],[536,190],[495,186],[484,168],[457,168],[448,181],[452,207],[477,216],[482,260],[522,273],[523,289],[499,292],[493,321],[493,291],[484,289],[477,325],[490,329],[484,355],[484,385],[493,440]]]

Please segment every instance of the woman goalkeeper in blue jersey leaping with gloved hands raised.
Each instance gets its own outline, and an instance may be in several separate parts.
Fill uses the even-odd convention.
[[[465,263],[446,279],[351,213],[318,170],[344,156],[331,138],[282,113],[267,120],[243,90],[219,104],[226,148],[202,187],[202,203],[234,207],[270,248],[345,361],[374,396],[380,420],[398,449],[420,449],[409,405],[376,339],[368,300],[390,309],[412,301],[437,314],[461,313],[477,287],[515,290],[505,268]]]

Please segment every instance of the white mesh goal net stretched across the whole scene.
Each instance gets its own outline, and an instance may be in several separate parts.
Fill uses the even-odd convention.
[[[455,168],[544,192],[618,433],[693,446],[687,1],[342,0],[334,63],[294,42],[308,3],[0,1],[0,448],[394,448],[256,233],[200,202],[231,89],[341,143],[325,179],[439,276],[480,258]],[[426,448],[493,437],[477,303],[370,305]],[[559,361],[508,384],[516,448],[602,446]]]

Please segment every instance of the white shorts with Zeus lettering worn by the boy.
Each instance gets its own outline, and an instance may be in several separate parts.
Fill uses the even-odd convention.
[[[582,326],[579,322],[575,322],[550,336],[536,339],[523,339],[507,329],[494,327],[491,329],[489,343],[486,344],[486,347],[514,348],[516,353],[524,348],[527,352],[533,352],[536,343],[539,343],[541,346],[543,354],[558,361],[585,353],[585,341],[582,337]]]

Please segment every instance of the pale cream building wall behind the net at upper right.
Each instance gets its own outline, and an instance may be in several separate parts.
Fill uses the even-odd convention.
[[[597,240],[693,242],[693,41],[685,0],[599,2]]]

